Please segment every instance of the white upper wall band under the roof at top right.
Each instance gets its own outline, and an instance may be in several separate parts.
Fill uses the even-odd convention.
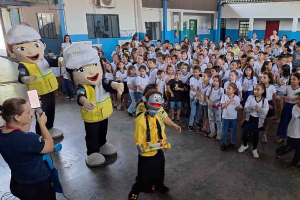
[[[222,18],[293,18],[299,17],[300,1],[225,4]]]

